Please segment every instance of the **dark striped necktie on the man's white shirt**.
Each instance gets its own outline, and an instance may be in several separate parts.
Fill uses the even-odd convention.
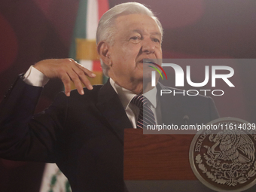
[[[139,107],[139,117],[137,128],[147,128],[148,125],[156,125],[153,111],[149,108],[149,101],[145,96],[136,95],[132,99],[132,103]]]

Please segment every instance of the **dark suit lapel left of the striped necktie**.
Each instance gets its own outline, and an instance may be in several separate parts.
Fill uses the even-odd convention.
[[[123,129],[132,128],[132,124],[128,119],[126,112],[117,93],[114,91],[109,80],[99,90],[98,102],[96,104],[102,115],[108,120],[114,133],[123,142]]]

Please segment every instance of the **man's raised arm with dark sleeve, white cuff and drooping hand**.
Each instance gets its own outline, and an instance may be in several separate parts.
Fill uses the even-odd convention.
[[[59,141],[65,129],[69,100],[66,96],[70,95],[71,81],[82,95],[82,84],[89,90],[93,89],[86,76],[93,78],[95,75],[73,59],[46,59],[36,63],[35,69],[30,69],[24,76],[17,78],[0,103],[0,157],[55,162],[60,157]],[[48,78],[60,78],[66,96],[60,93],[53,105],[34,115]]]

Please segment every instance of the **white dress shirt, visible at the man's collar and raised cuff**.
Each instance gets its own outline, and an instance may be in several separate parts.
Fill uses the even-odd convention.
[[[35,69],[33,66],[30,66],[29,70],[23,77],[23,81],[25,81],[26,84],[36,87],[44,87],[44,85],[49,81],[49,78],[47,78],[43,73],[38,71],[38,69]],[[110,84],[119,96],[120,102],[122,103],[126,115],[133,125],[133,128],[136,128],[136,123],[139,116],[139,108],[135,104],[131,103],[133,97],[136,96],[136,94],[132,93],[130,90],[126,90],[125,88],[120,87],[111,78]],[[156,123],[159,124],[161,122],[161,113],[160,100],[157,99],[157,88],[154,87],[154,89],[144,93],[143,96],[149,100],[149,107],[154,113]]]

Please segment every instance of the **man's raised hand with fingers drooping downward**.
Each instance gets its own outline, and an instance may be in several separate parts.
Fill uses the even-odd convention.
[[[70,96],[71,81],[74,82],[78,93],[81,95],[84,95],[82,83],[88,90],[93,89],[87,76],[95,78],[96,75],[73,59],[45,59],[35,63],[34,67],[47,76],[47,78],[61,79],[65,87],[66,96]]]

